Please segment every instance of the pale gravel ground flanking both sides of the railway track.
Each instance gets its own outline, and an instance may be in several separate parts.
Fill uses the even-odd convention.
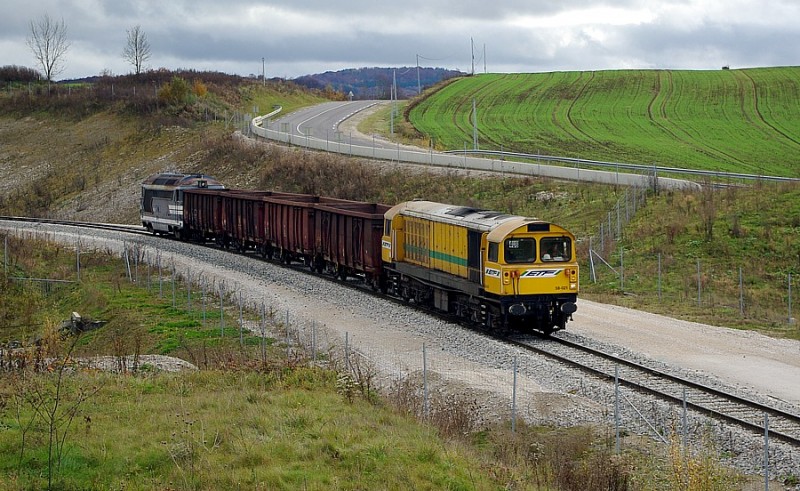
[[[8,225],[21,233],[29,227]],[[84,232],[63,227],[47,230],[53,240],[81,241],[82,248],[121,250],[117,234]],[[433,391],[456,391],[476,402],[484,419],[508,418],[515,360],[518,370],[515,411],[538,424],[613,424],[614,389],[554,362],[539,359],[495,339],[462,329],[403,305],[332,285],[299,271],[276,267],[255,258],[153,237],[125,239],[159,254],[162,264],[178,272],[191,271],[224,282],[226,291],[241,292],[246,305],[264,302],[295,326],[319,326],[325,342],[342,345],[370,359],[387,380],[412,377],[427,364]],[[705,326],[586,300],[578,303],[575,321],[565,336],[580,336],[612,352],[625,353],[673,371],[694,374],[733,386],[753,397],[784,401],[800,413],[800,343],[751,332]],[[422,351],[426,357],[423,361]],[[635,433],[654,436],[651,425],[674,428],[676,408],[623,392],[622,418]],[[763,437],[744,434],[720,423],[689,415],[692,438],[711,433],[730,463],[758,474],[763,462]],[[800,475],[800,449],[773,442],[772,475]]]

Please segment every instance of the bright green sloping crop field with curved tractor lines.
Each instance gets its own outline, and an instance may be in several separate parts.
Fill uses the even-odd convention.
[[[440,148],[800,176],[800,67],[487,74],[411,108]]]

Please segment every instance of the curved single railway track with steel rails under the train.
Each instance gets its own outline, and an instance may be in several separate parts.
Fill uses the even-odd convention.
[[[4,216],[0,216],[0,220],[67,225],[152,236],[143,227],[130,225]],[[212,244],[208,245],[216,248]],[[239,254],[252,257],[252,254]],[[308,271],[307,266],[301,266],[296,263],[286,265],[277,260],[270,262],[275,266]],[[379,295],[377,292],[364,287],[364,285],[354,284],[355,282],[352,280],[341,281],[329,275],[315,276],[327,278],[331,282],[345,287],[357,288],[362,292]],[[382,296],[382,298],[385,299],[386,297]],[[397,304],[407,303],[392,297],[389,297],[389,299]],[[442,317],[435,312],[433,314]],[[453,319],[448,320],[453,321]],[[698,414],[725,421],[756,434],[764,433],[765,416],[768,416],[770,437],[800,448],[800,414],[788,412],[701,382],[644,366],[612,353],[603,352],[557,336],[542,339],[534,336],[515,335],[505,338],[504,341],[532,351],[537,355],[546,356],[560,363],[575,367],[591,376],[610,382],[617,379],[622,386],[657,397],[676,406],[682,407],[685,403],[688,409],[692,409]]]

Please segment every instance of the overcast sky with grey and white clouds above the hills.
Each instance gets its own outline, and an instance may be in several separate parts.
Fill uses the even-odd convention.
[[[59,80],[131,73],[137,24],[148,68],[261,75],[263,58],[268,78],[418,56],[478,73],[800,65],[798,0],[3,0],[0,14],[0,66],[40,71],[30,22],[63,18]]]

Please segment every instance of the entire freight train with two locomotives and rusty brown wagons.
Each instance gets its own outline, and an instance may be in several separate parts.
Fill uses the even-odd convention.
[[[536,218],[432,201],[388,206],[225,189],[199,174],[147,179],[141,218],[154,233],[360,278],[492,330],[549,335],[577,309],[575,237]]]

